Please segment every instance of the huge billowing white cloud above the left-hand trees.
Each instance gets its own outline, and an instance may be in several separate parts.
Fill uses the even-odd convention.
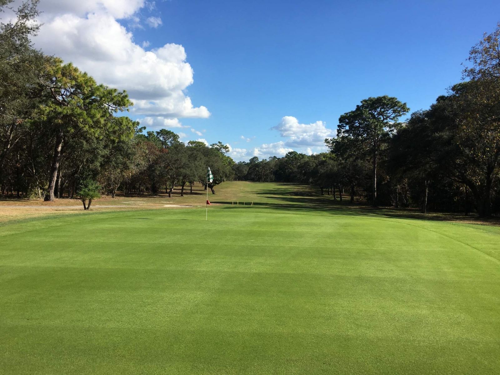
[[[124,19],[140,20],[139,10],[153,9],[144,0],[41,0],[43,25],[35,46],[60,56],[88,72],[97,82],[126,89],[134,106],[132,114],[164,118],[210,115],[204,106],[195,107],[185,89],[193,82],[193,70],[184,47],[167,43],[146,51],[148,42],[134,42]],[[161,24],[157,17],[146,23]],[[158,23],[159,22],[159,23]]]

